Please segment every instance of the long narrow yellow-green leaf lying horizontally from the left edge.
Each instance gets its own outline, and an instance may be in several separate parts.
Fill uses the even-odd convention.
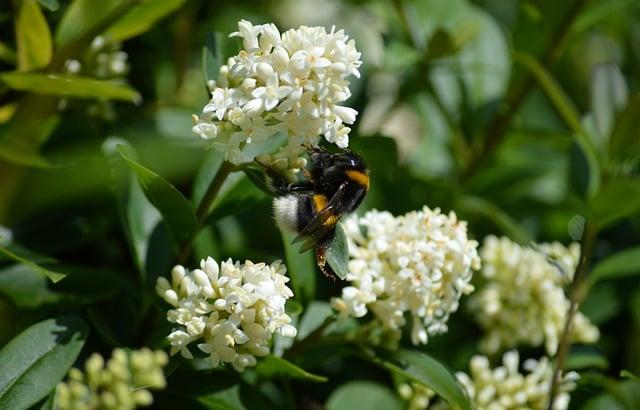
[[[29,91],[34,94],[122,100],[136,104],[141,101],[140,94],[128,85],[113,81],[94,80],[88,77],[12,72],[0,74],[0,80],[9,88]]]

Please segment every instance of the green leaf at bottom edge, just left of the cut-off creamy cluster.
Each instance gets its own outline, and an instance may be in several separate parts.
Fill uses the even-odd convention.
[[[380,352],[365,352],[365,357],[374,364],[392,371],[406,379],[421,383],[435,391],[450,405],[470,410],[469,398],[455,376],[440,362],[425,353],[401,349],[392,360],[385,360]]]

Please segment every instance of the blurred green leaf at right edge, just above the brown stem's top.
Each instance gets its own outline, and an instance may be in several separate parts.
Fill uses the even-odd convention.
[[[610,181],[589,202],[589,210],[602,229],[640,211],[640,177]]]

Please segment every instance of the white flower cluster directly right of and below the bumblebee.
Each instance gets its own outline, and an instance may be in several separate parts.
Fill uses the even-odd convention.
[[[480,268],[478,243],[467,237],[466,222],[425,206],[399,217],[369,211],[343,226],[351,284],[332,300],[333,307],[344,316],[371,311],[376,324],[398,338],[409,313],[416,345],[446,332],[449,315],[473,291],[469,282]]]

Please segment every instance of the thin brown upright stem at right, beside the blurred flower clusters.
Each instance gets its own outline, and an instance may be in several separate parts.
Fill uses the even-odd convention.
[[[549,410],[553,407],[553,401],[558,394],[558,387],[560,385],[560,377],[564,368],[564,363],[569,353],[569,347],[571,344],[571,327],[573,324],[573,318],[578,311],[578,306],[584,300],[587,295],[586,282],[587,270],[589,268],[589,262],[593,253],[593,244],[596,238],[596,231],[592,223],[587,223],[584,228],[584,236],[580,243],[580,260],[576,267],[573,281],[571,282],[571,289],[569,290],[569,311],[564,324],[564,330],[560,337],[558,344],[558,351],[556,353],[556,366],[553,372],[553,378],[551,379],[551,389],[549,390],[549,403],[547,408]]]

